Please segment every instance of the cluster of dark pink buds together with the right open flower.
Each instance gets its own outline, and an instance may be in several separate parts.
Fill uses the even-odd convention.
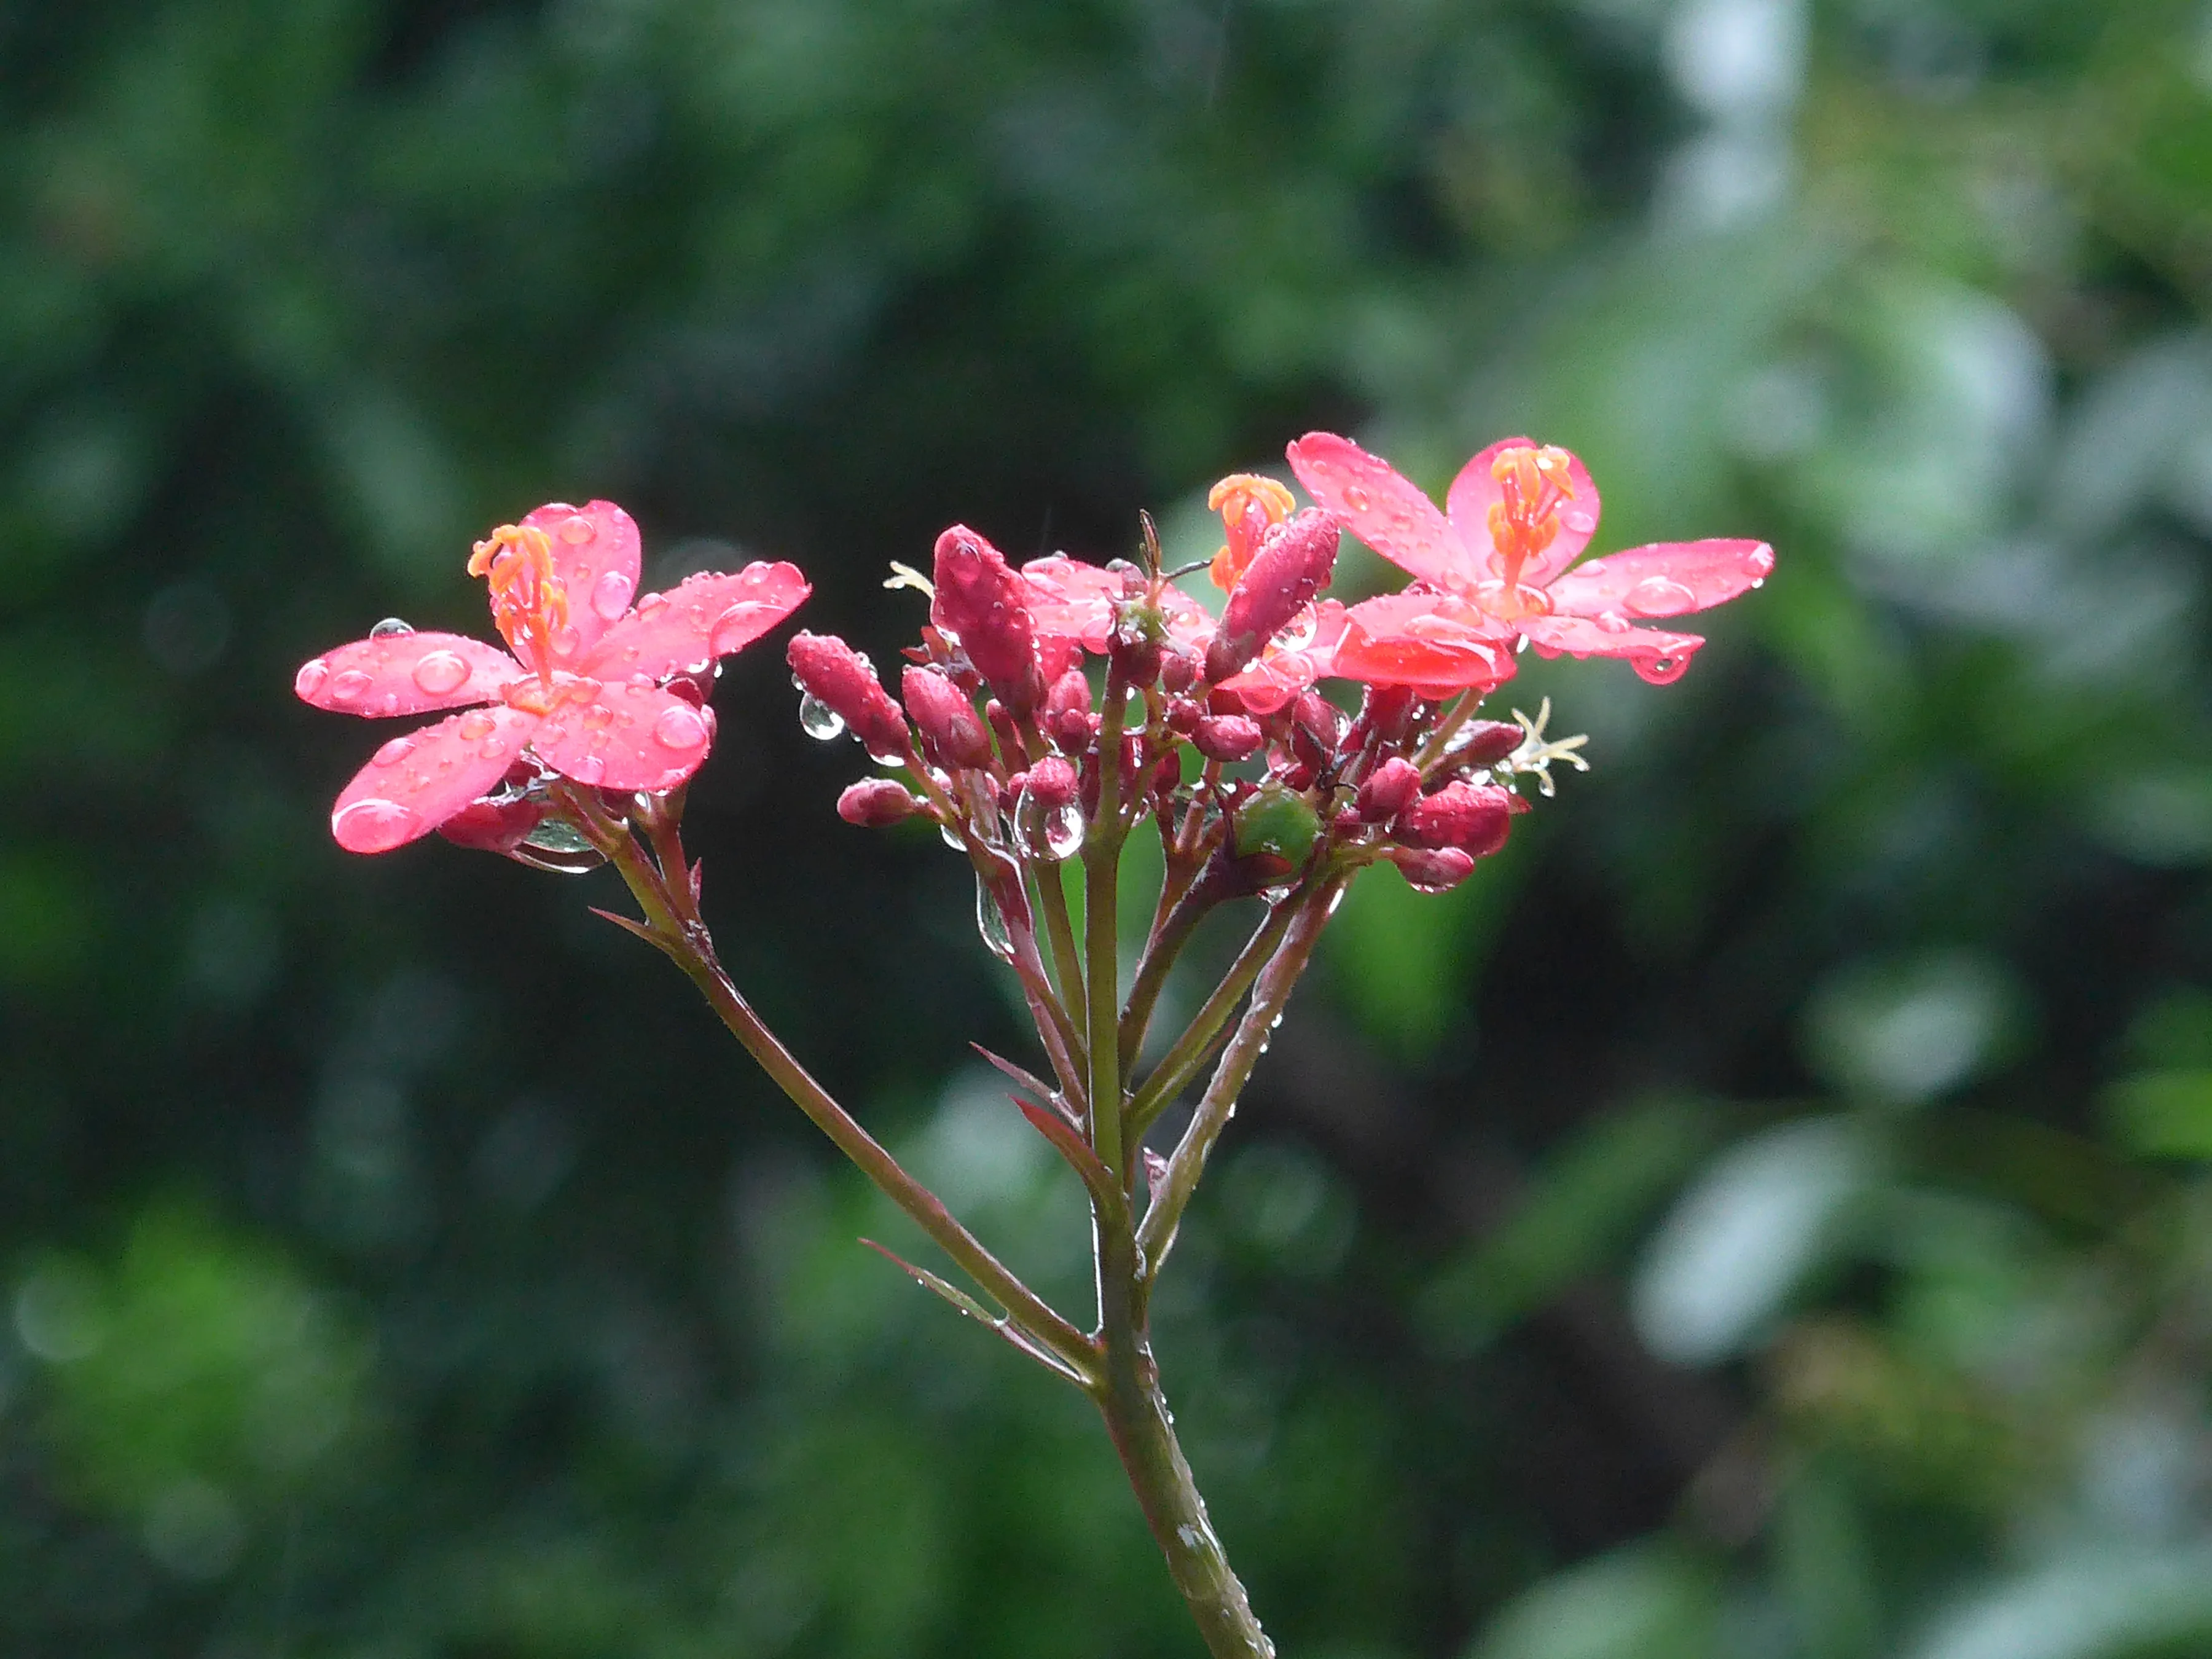
[[[953,526],[896,699],[845,641],[794,637],[807,730],[852,730],[905,768],[854,783],[838,812],[858,825],[936,818],[980,856],[1009,951],[1024,883],[991,880],[989,858],[1073,856],[1102,799],[1115,832],[1155,816],[1170,860],[1192,880],[1206,867],[1217,896],[1321,860],[1389,860],[1444,891],[1504,845],[1524,776],[1548,794],[1551,761],[1582,765],[1579,739],[1546,741],[1542,719],[1475,717],[1520,646],[1626,657],[1670,681],[1701,639],[1644,624],[1730,599],[1774,564],[1761,542],[1717,540],[1575,566],[1597,489],[1575,456],[1526,438],[1475,456],[1447,511],[1334,434],[1294,442],[1290,467],[1318,507],[1298,511],[1287,487],[1254,476],[1208,498],[1225,531],[1206,566],[1219,617],[1159,568],[1150,538],[1144,564],[1053,555],[1015,568]],[[1343,531],[1413,584],[1352,606],[1325,597]],[[1358,681],[1363,699],[1343,708],[1323,679]]]

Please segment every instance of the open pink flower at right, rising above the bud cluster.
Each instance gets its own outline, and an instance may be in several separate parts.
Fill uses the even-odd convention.
[[[1290,467],[1347,531],[1418,577],[1409,593],[1352,608],[1338,672],[1354,679],[1380,677],[1354,672],[1367,664],[1407,675],[1394,684],[1484,684],[1464,677],[1495,653],[1484,639],[1528,639],[1546,657],[1628,657],[1668,684],[1705,641],[1632,619],[1705,611],[1774,568],[1765,542],[1732,540],[1632,546],[1568,568],[1597,529],[1597,484],[1573,453],[1528,438],[1469,460],[1442,513],[1387,460],[1329,431],[1294,442]],[[1500,666],[1511,670],[1511,657]]]

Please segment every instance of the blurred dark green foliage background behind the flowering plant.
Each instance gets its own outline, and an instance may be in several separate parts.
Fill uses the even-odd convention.
[[[1356,891],[1199,1199],[1285,1655],[2212,1652],[2197,0],[15,0],[0,91],[0,1648],[1194,1652],[606,878],[341,854],[288,686],[549,498],[885,661],[947,522],[1334,427],[1781,566],[1528,664],[1593,774]],[[717,701],[739,980],[1079,1305],[967,878]]]

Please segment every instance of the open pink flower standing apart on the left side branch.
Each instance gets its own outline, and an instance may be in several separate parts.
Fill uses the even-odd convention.
[[[790,564],[637,588],[637,524],[613,502],[540,507],[476,544],[469,575],[513,655],[451,633],[378,630],[316,657],[292,690],[343,714],[465,714],[394,737],[338,794],[330,832],[389,852],[487,796],[515,761],[659,794],[706,759],[714,710],[666,681],[759,639],[807,597]]]

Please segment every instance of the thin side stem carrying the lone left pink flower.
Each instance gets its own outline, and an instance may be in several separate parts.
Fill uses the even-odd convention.
[[[860,1128],[827,1088],[814,1082],[807,1068],[799,1064],[792,1051],[752,1011],[752,1004],[745,1002],[723,971],[721,960],[714,956],[714,940],[690,902],[690,880],[684,872],[681,854],[675,849],[672,830],[653,830],[661,858],[668,860],[675,856],[672,872],[666,867],[657,869],[633,834],[608,818],[588,792],[562,785],[557,796],[591,845],[628,883],[630,894],[646,914],[641,931],[690,975],[692,984],[706,995],[708,1006],[730,1029],[730,1035],[745,1044],[745,1053],[752,1055],[776,1088],[876,1183],[876,1190],[905,1210],[947,1256],[960,1263],[969,1279],[984,1294],[993,1296],[1026,1336],[1064,1360],[1077,1376],[1095,1378],[1099,1354],[1091,1338],[1053,1312],[973,1232],[960,1225],[936,1192],[907,1175],[898,1159],[874,1135]]]

